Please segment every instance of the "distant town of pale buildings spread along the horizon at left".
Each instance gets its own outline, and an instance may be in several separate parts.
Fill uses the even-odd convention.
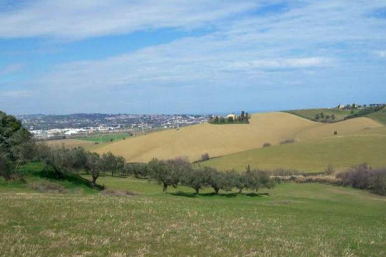
[[[206,123],[210,115],[141,115],[141,114],[70,114],[19,115],[23,126],[35,139],[60,139],[87,136],[95,133],[146,133]]]

